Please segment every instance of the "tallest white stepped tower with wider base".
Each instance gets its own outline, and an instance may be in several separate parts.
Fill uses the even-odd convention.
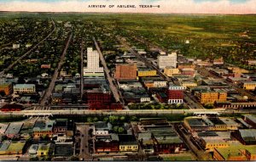
[[[87,47],[87,67],[84,75],[104,75],[103,67],[100,67],[100,55],[92,47]]]

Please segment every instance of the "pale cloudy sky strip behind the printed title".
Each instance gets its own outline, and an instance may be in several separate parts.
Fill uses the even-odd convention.
[[[128,4],[136,8],[117,8]],[[106,5],[106,8],[89,8],[89,5]],[[160,5],[160,8],[139,5]],[[0,11],[256,14],[256,0],[0,0]]]

